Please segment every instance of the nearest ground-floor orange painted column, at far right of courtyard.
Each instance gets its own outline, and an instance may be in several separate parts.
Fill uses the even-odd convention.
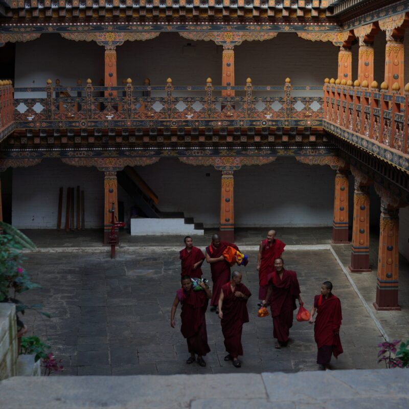
[[[377,310],[400,310],[399,284],[399,209],[388,208],[381,201],[378,277],[376,283]]]

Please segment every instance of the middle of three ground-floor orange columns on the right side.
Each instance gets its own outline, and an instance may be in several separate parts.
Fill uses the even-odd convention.
[[[368,186],[355,178],[354,221],[352,226],[351,264],[353,272],[371,271],[369,268],[369,206]]]

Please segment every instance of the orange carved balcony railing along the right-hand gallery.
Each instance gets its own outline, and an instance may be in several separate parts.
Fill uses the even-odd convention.
[[[336,128],[341,128],[351,142],[359,142],[375,154],[380,148],[387,148],[387,160],[391,160],[394,154],[408,153],[409,93],[401,94],[397,84],[389,92],[385,82],[381,84],[381,90],[376,82],[371,88],[368,88],[367,81],[362,85],[359,81],[354,84],[351,81],[348,85],[331,82],[326,79],[324,85],[324,122],[335,125],[331,130],[340,133]],[[358,135],[365,138],[358,140]]]

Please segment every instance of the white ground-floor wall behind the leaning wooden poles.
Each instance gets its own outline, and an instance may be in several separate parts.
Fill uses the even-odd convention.
[[[18,229],[56,229],[58,192],[64,188],[62,228],[65,223],[66,188],[80,186],[85,195],[85,228],[104,224],[104,174],[96,168],[77,168],[59,159],[44,160],[30,168],[13,169],[12,224]],[[75,197],[75,200],[77,197]],[[74,206],[76,209],[76,205]]]

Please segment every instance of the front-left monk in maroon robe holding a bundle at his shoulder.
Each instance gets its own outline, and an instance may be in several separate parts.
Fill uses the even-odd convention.
[[[180,302],[182,306],[180,332],[186,338],[190,352],[190,357],[186,363],[194,362],[196,360],[195,354],[197,354],[197,363],[201,367],[206,367],[203,356],[210,352],[210,348],[208,345],[205,314],[209,300],[212,298],[212,293],[203,282],[200,283],[203,290],[193,291],[192,281],[189,276],[182,277],[181,284],[182,288],[176,291],[176,297],[170,312],[170,326],[172,328],[176,326],[175,313]]]

